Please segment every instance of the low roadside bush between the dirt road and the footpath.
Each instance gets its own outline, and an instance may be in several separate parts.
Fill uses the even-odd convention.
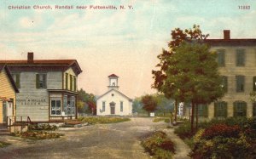
[[[141,144],[143,145],[144,150],[154,158],[173,158],[175,152],[174,143],[171,139],[167,138],[167,135],[164,132],[156,131],[154,133],[148,133],[143,137]]]

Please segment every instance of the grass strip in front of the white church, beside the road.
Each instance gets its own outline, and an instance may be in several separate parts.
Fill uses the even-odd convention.
[[[90,124],[97,124],[97,123],[117,123],[117,122],[127,122],[130,121],[130,118],[127,117],[110,117],[110,116],[86,116],[86,117],[79,117],[80,122],[87,122]]]

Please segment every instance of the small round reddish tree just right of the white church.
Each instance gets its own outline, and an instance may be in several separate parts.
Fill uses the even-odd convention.
[[[157,102],[154,99],[153,95],[144,95],[142,97],[143,109],[148,111],[148,115],[150,112],[155,111],[157,107]]]

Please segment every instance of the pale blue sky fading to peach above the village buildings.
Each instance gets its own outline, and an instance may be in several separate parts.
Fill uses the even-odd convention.
[[[9,9],[34,5],[52,9]],[[0,59],[26,60],[27,52],[36,60],[75,59],[83,70],[78,88],[104,94],[114,73],[119,90],[135,98],[156,93],[151,71],[173,29],[196,24],[208,38],[223,38],[226,29],[231,38],[256,38],[255,20],[254,0],[0,0]]]

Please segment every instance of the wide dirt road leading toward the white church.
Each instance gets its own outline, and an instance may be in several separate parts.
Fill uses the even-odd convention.
[[[12,145],[0,149],[0,158],[150,158],[139,138],[166,128],[166,123],[152,120],[131,118],[130,122],[64,128],[59,130],[65,134],[61,139],[32,141],[6,136],[5,140]]]

